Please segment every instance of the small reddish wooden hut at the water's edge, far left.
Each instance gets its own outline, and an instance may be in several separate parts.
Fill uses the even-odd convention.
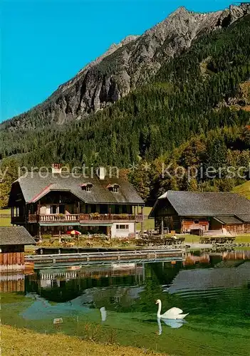
[[[0,227],[0,271],[23,271],[24,246],[33,244],[24,226]]]

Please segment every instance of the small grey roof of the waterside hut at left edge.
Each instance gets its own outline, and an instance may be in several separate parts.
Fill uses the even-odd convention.
[[[36,241],[24,226],[0,227],[0,246],[33,244],[36,244]]]

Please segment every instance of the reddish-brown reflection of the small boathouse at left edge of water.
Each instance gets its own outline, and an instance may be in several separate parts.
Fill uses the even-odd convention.
[[[0,274],[1,293],[24,292],[24,273]]]

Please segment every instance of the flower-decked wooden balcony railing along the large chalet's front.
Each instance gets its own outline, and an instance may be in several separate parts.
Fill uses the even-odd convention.
[[[143,216],[141,214],[29,214],[28,222],[79,222],[85,223],[86,221],[142,221]]]

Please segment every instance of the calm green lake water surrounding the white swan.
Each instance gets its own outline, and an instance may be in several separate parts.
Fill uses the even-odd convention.
[[[1,295],[2,323],[170,355],[250,355],[250,251],[44,268],[18,287],[1,283],[5,291],[19,288]],[[185,322],[157,320],[156,299],[162,300],[162,313],[173,306],[189,313]],[[63,323],[53,325],[54,318]]]

